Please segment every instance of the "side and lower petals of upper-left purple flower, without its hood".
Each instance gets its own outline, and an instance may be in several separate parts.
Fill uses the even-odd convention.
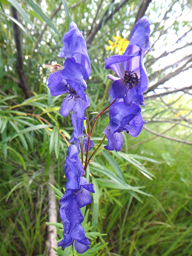
[[[90,100],[85,89],[88,78],[86,68],[74,61],[67,59],[64,63],[64,69],[59,70],[49,76],[48,87],[52,96],[68,93],[61,105],[61,115],[66,117],[73,109],[76,118],[85,119],[84,112],[90,105]]]

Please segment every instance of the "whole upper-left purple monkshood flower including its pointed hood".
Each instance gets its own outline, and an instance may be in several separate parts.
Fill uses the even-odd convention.
[[[91,65],[85,39],[75,22],[70,23],[58,56],[67,59],[64,62],[64,69],[49,76],[48,87],[51,95],[68,93],[61,105],[61,115],[66,117],[73,109],[76,118],[85,119],[84,111],[90,105],[89,97],[85,93],[85,81],[91,74]]]

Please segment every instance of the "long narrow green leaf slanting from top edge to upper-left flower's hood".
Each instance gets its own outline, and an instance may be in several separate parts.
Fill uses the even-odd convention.
[[[37,15],[39,15],[44,22],[47,23],[47,25],[49,25],[50,28],[52,28],[60,37],[60,33],[57,30],[57,28],[55,28],[54,24],[52,23],[52,21],[50,20],[50,18],[41,10],[41,7],[33,0],[25,0],[25,2],[31,6],[33,8],[33,10],[37,13]]]

